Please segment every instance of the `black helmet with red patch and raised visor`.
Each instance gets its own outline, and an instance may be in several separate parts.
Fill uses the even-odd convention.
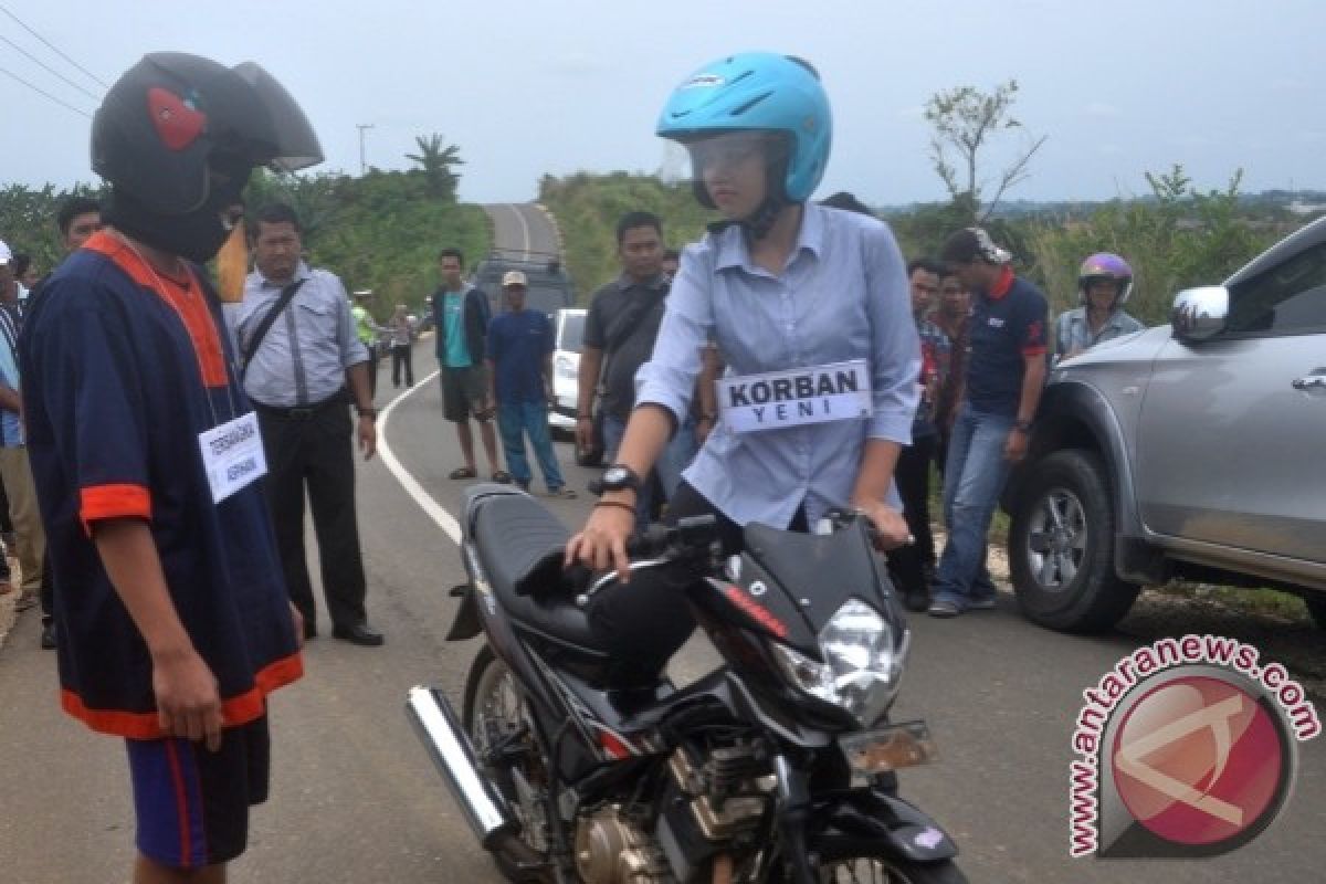
[[[111,184],[106,220],[196,261],[225,240],[219,212],[255,167],[320,162],[304,111],[252,62],[151,53],[115,81],[91,126],[93,171]]]

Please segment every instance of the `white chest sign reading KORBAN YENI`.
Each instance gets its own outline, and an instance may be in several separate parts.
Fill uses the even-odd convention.
[[[721,378],[716,386],[723,424],[739,433],[861,419],[873,407],[865,359]]]

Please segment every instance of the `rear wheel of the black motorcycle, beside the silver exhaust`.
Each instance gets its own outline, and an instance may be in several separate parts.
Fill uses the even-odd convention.
[[[481,773],[497,786],[520,820],[520,834],[492,848],[499,871],[517,884],[552,881],[554,877],[549,864],[546,793],[541,787],[548,778],[533,736],[526,733],[522,741],[503,753],[503,759],[509,759],[507,763],[493,757],[499,741],[512,740],[525,728],[526,716],[516,677],[484,645],[465,679],[464,725]],[[526,751],[517,750],[521,744]],[[521,795],[516,786],[517,775],[534,787],[533,794]]]

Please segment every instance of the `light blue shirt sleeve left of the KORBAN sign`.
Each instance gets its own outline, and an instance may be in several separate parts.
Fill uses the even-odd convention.
[[[668,290],[654,355],[635,372],[635,404],[651,403],[672,412],[678,424],[691,408],[700,374],[700,347],[713,327],[712,253],[688,245]]]

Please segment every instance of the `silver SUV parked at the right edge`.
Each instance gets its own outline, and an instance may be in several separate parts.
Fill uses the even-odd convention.
[[[1297,592],[1326,627],[1326,219],[1059,363],[1004,505],[1042,626],[1105,630],[1188,578]]]

